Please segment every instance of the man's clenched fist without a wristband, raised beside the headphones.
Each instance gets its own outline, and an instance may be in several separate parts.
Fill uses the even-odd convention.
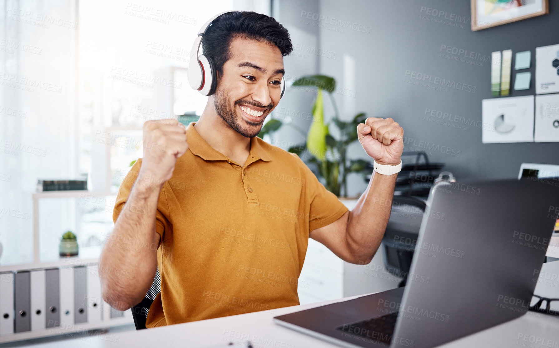
[[[163,185],[173,175],[177,159],[188,150],[186,127],[176,119],[149,120],[143,132],[140,177],[149,176]]]

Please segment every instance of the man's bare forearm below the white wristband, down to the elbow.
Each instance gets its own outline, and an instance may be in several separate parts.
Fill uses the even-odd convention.
[[[367,189],[349,212],[345,241],[355,263],[368,264],[381,244],[390,217],[397,174],[373,171]]]

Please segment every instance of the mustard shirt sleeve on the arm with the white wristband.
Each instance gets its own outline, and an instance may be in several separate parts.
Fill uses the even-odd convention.
[[[305,162],[297,154],[293,155],[300,162],[305,178],[307,201],[310,202],[309,231],[329,225],[349,211],[336,195],[326,190]]]

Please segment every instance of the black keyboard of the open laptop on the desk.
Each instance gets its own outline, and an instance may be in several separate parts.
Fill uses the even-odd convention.
[[[337,329],[350,334],[367,337],[377,342],[390,344],[392,334],[396,327],[398,312],[390,313],[380,317],[370,318],[362,321],[352,322],[338,326]]]

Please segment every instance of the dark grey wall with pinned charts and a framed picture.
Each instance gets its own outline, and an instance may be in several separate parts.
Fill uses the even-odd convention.
[[[286,20],[285,15],[288,15],[288,30],[296,28],[297,32],[318,35],[315,48],[321,49],[319,54],[308,58],[301,54],[302,51],[299,51],[299,56],[286,57],[286,68],[295,68],[295,74],[315,73],[312,69],[302,71],[304,69],[297,67],[310,61],[311,57],[318,57],[318,72],[334,76],[340,87],[347,88],[345,92],[339,90],[334,94],[342,118],[352,117],[361,111],[370,117],[392,117],[404,128],[406,141],[413,139],[416,144],[429,142],[439,148],[454,149],[454,153],[459,150],[459,156],[430,151],[430,158],[446,162],[447,170],[462,180],[516,177],[522,162],[559,164],[559,143],[482,144],[481,127],[466,125],[467,129],[459,129],[435,124],[428,119],[437,118],[425,115],[426,109],[433,109],[459,115],[472,122],[481,121],[481,100],[491,98],[492,51],[513,50],[513,64],[516,52],[532,51],[532,88],[527,91],[513,90],[511,96],[534,94],[535,48],[559,43],[559,10],[553,7],[553,1],[547,16],[478,32],[470,29],[468,0],[320,0],[318,8],[315,1],[282,2],[285,4],[282,5],[280,21]],[[425,8],[447,12],[448,16],[453,15],[452,18],[465,17],[468,22],[451,20],[448,22],[452,25],[438,23]],[[319,13],[326,16],[326,20],[308,20],[302,11]],[[338,23],[356,23],[365,31],[370,27],[371,32],[359,32],[343,25],[327,25],[325,21],[329,22],[331,18],[336,18]],[[301,43],[297,40],[297,35],[293,35],[294,45]],[[470,59],[474,64],[456,60],[459,56],[452,54],[449,56],[454,59],[443,57],[440,56],[444,53],[442,45],[480,56]],[[331,54],[333,52],[335,55]],[[406,70],[475,86],[475,93],[453,88],[439,91],[409,84],[404,81]],[[286,71],[291,73],[290,69]],[[354,96],[351,95],[353,90]],[[293,90],[290,93],[295,94]],[[299,91],[296,94],[311,93]],[[289,104],[282,100],[280,106],[310,112],[310,104],[303,101]],[[331,112],[331,108],[326,109],[327,120]],[[301,124],[308,127],[308,122]],[[285,130],[281,137],[288,137],[287,132]],[[421,149],[421,146],[410,143],[405,151]],[[351,156],[366,158],[359,144],[350,150]],[[365,184],[361,177],[353,176],[349,187],[349,194],[352,195],[362,191]]]

